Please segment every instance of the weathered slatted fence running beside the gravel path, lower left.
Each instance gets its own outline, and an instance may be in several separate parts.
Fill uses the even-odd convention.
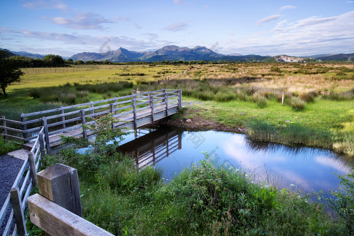
[[[41,128],[35,140],[35,145],[29,152],[28,158],[23,163],[15,182],[12,185],[11,191],[0,211],[0,224],[3,224],[8,211],[11,211],[9,218],[6,221],[7,223],[3,236],[9,235],[11,231],[13,231],[12,235],[27,234],[26,222],[24,221],[23,213],[32,187],[37,185],[36,172],[39,167],[40,158],[46,155],[45,135],[43,132],[44,128]],[[28,170],[28,165],[29,171],[27,171],[25,177],[23,177],[25,171]],[[16,225],[13,228],[14,219],[16,221]]]

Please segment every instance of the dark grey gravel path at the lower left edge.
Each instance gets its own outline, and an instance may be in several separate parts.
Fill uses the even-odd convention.
[[[11,157],[9,155],[0,156],[0,206],[3,204],[9,195],[12,185],[17,177],[23,164],[23,160]],[[8,212],[10,215],[10,211]],[[7,219],[8,216],[5,218]],[[1,225],[0,235],[3,234],[6,224]]]

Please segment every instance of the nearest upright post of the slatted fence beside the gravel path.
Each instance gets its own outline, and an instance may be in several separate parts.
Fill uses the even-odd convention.
[[[27,235],[25,217],[22,211],[21,196],[18,187],[13,187],[10,190],[12,209],[16,220],[16,228],[18,235]]]

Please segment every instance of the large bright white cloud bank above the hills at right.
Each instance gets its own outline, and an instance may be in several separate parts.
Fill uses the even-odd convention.
[[[247,37],[230,37],[223,51],[246,54],[294,56],[354,52],[354,11],[334,17],[284,20],[272,31]]]

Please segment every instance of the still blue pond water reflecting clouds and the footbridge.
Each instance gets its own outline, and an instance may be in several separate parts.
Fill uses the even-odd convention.
[[[121,151],[134,155],[139,168],[162,167],[167,181],[203,159],[202,152],[252,173],[254,181],[281,188],[294,184],[305,193],[338,188],[339,180],[333,173],[343,175],[350,171],[344,158],[331,151],[261,143],[240,133],[161,128],[138,130],[124,137]]]

